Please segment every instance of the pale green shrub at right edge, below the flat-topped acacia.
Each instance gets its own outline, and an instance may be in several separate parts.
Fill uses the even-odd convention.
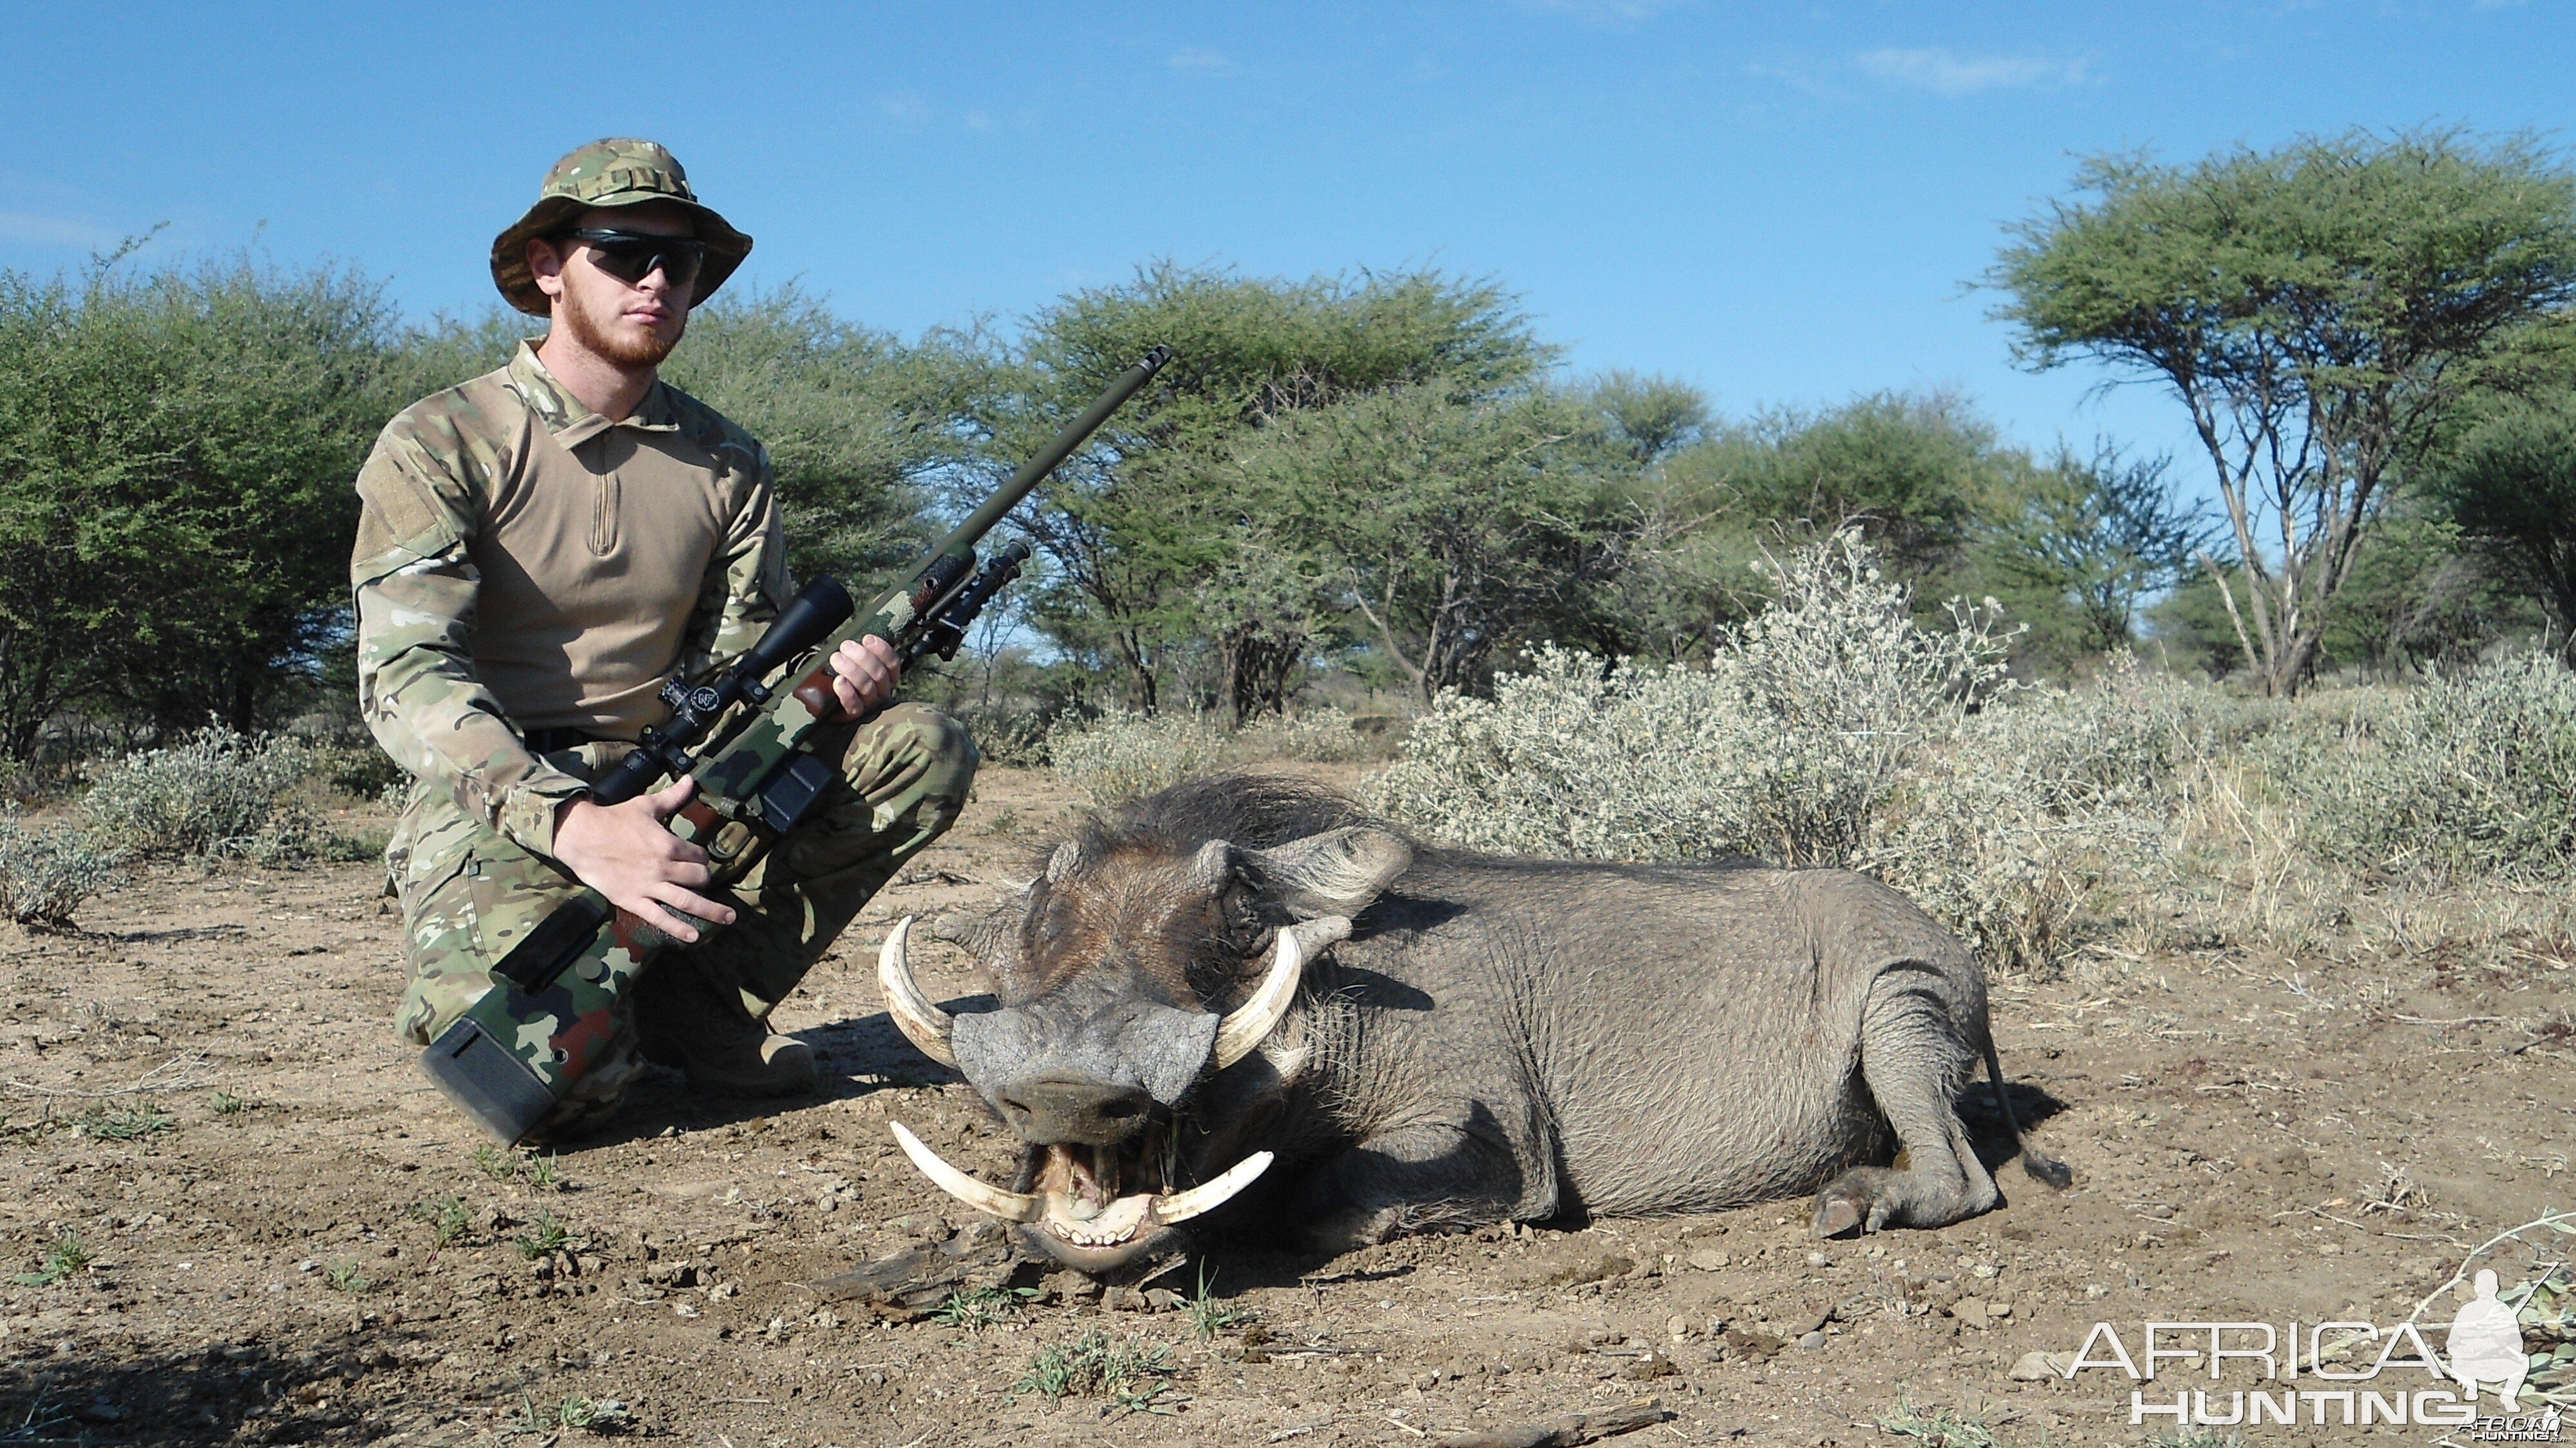
[[[2568,879],[2576,672],[2555,652],[2365,698],[2259,750],[2311,850],[2393,876]]]

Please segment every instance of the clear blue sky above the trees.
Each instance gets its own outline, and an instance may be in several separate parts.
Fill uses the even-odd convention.
[[[1007,325],[1151,258],[1430,263],[1728,415],[1955,386],[2032,446],[2184,448],[2148,389],[2009,366],[1968,289],[1999,227],[2112,147],[2568,144],[2571,41],[2563,0],[13,5],[0,268],[167,222],[147,255],[258,237],[477,309],[544,167],[647,134],[760,240],[747,281],[876,327]]]

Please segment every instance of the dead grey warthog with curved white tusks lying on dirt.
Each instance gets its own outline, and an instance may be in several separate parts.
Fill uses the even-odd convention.
[[[909,920],[878,976],[1018,1131],[1020,1177],[896,1139],[1082,1270],[1236,1193],[1229,1216],[1267,1206],[1316,1250],[1816,1188],[1826,1237],[1999,1201],[1953,1108],[1978,1054],[2004,1098],[1986,976],[1868,876],[1435,850],[1234,776],[1092,819],[951,935],[999,1010],[930,1005]],[[1891,1136],[1904,1170],[1875,1165]]]

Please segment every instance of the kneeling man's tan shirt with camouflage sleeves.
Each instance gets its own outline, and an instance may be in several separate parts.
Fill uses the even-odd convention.
[[[376,742],[469,819],[554,853],[582,781],[523,729],[631,739],[788,598],[768,453],[654,384],[631,417],[590,412],[520,343],[438,392],[358,472],[358,709]]]

